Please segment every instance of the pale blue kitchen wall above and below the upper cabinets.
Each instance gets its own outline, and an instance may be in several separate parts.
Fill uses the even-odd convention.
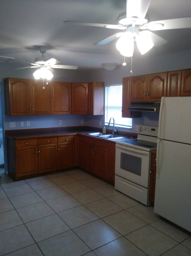
[[[34,58],[38,51],[33,51]],[[2,54],[3,55],[3,54]],[[163,54],[162,56],[155,57],[145,57],[135,56],[133,58],[133,76],[143,75],[143,74],[152,74],[158,72],[180,70],[180,69],[189,69],[190,68],[190,50],[180,50],[174,53]],[[51,56],[50,56],[51,57]],[[33,59],[31,60],[33,61]],[[123,59],[121,58],[121,62]],[[101,63],[101,62],[100,62]],[[25,79],[33,79],[31,69],[25,70],[14,70],[13,64],[2,63],[1,65],[1,94],[4,94],[3,80],[6,77],[17,77]],[[17,67],[20,67],[21,65]],[[13,67],[13,69],[12,69]],[[128,62],[127,67],[122,67],[115,69],[113,71],[107,71],[104,69],[98,69],[94,71],[61,71],[58,70],[55,72],[53,81],[72,81],[72,82],[84,82],[84,81],[104,81],[105,85],[107,84],[121,84],[123,77],[131,76],[130,74],[130,62]],[[64,74],[64,77],[63,77]],[[84,79],[85,77],[85,79]],[[2,97],[2,96],[1,96]],[[104,123],[103,116],[88,116],[88,115],[58,115],[58,116],[30,116],[30,117],[13,117],[5,115],[4,110],[4,95],[2,97],[3,101],[3,122],[4,130],[11,130],[9,128],[9,122],[16,122],[16,129],[20,129],[19,123],[24,121],[24,128],[26,127],[26,121],[30,121],[30,128],[44,128],[44,127],[59,127],[58,120],[62,120],[63,126],[80,126],[81,119],[83,119],[83,125],[93,126],[100,128],[100,121]],[[133,127],[130,132],[135,133],[135,125],[153,125],[158,126],[158,113],[143,113],[141,118],[133,119]],[[102,127],[101,127],[102,128]],[[123,129],[119,129],[122,130]],[[5,162],[6,165],[6,162]]]

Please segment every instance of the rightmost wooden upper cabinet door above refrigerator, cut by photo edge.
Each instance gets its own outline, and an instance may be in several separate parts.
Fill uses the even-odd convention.
[[[182,70],[180,96],[191,96],[191,69]]]

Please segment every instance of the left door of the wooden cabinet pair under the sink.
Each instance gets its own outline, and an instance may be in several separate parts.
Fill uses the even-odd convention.
[[[94,173],[94,146],[82,142],[81,166],[83,169]]]

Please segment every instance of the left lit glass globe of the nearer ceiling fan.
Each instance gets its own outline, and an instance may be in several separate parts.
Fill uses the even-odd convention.
[[[131,32],[124,32],[123,35],[118,39],[116,43],[116,48],[118,51],[126,53],[122,54],[123,56],[132,56],[134,50],[134,39]]]

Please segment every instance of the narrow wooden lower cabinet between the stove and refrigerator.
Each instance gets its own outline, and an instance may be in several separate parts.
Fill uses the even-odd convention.
[[[151,168],[150,168],[150,188],[149,200],[152,204],[155,202],[155,182],[156,182],[156,154],[151,154]]]

